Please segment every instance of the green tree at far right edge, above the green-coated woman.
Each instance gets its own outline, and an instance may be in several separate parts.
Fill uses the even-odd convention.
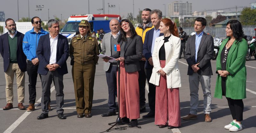
[[[241,12],[240,22],[242,25],[255,25],[256,9],[251,9],[250,7],[244,8]]]

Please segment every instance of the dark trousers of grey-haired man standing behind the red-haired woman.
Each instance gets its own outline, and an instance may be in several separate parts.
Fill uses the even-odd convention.
[[[153,68],[146,68],[146,75],[148,80],[148,105],[150,112],[155,113],[155,104],[156,104],[156,86],[152,83],[149,83],[149,79],[152,74]]]

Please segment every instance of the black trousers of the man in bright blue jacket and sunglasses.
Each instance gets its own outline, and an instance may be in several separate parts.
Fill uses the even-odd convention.
[[[36,80],[37,80],[37,70],[38,65],[35,66],[31,61],[28,60],[27,63],[27,73],[28,73],[28,93],[29,93],[29,103],[35,104],[36,102]],[[39,74],[40,80],[41,74]],[[51,99],[49,100],[51,102]]]

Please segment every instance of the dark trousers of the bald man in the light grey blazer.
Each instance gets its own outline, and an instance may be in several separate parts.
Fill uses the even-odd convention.
[[[116,112],[116,69],[117,66],[109,66],[106,72],[107,84],[108,84],[108,107],[110,112]]]

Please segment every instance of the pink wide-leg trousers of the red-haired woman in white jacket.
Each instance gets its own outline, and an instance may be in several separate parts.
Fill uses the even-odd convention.
[[[160,60],[160,65],[164,68],[165,60]],[[166,75],[161,75],[159,86],[156,86],[156,125],[167,125],[167,123],[173,127],[181,125],[179,94],[179,88],[167,88]]]

